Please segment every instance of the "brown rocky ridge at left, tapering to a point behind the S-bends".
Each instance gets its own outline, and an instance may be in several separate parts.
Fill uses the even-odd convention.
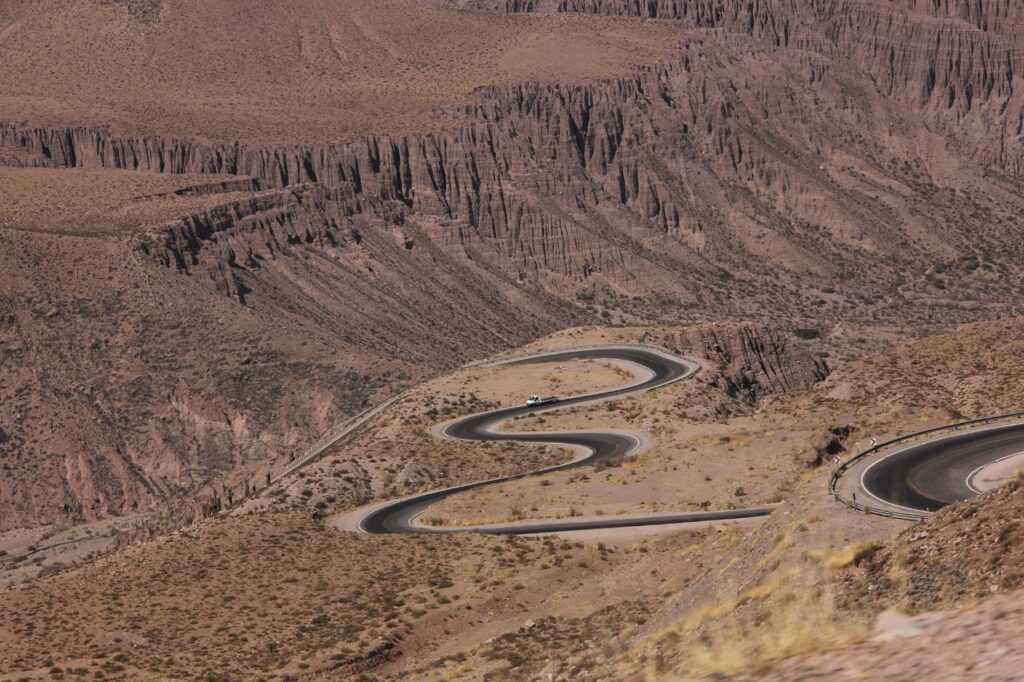
[[[127,233],[0,229],[0,530],[261,481],[398,386],[581,316],[322,186],[210,199]]]

